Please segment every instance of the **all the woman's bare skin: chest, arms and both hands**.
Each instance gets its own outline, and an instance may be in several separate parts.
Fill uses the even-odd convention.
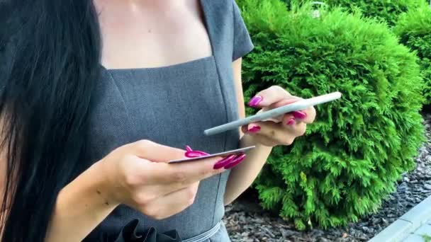
[[[197,0],[95,0],[94,3],[100,12],[102,64],[106,69],[165,67],[212,54]],[[232,67],[238,109],[244,117],[241,62],[235,60]],[[297,100],[276,86],[257,95],[263,97],[257,106],[262,109]],[[286,125],[293,117],[287,114],[279,120],[242,127],[241,146],[257,148],[232,168],[225,204],[252,184],[272,146],[289,145],[305,132],[306,124],[314,120],[315,110],[309,108],[303,113],[307,117],[296,120],[294,125]],[[254,126],[261,127],[260,131],[250,132]],[[150,141],[125,144],[113,150],[61,190],[45,241],[82,241],[118,204],[127,204],[155,219],[186,209],[194,202],[198,183],[225,169],[213,169],[223,157],[199,163],[167,164],[169,160],[184,158],[184,154],[184,150]]]

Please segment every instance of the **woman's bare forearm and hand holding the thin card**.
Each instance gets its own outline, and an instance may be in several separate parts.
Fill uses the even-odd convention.
[[[82,241],[118,204],[155,219],[186,209],[194,202],[198,181],[224,170],[213,168],[221,157],[199,164],[164,163],[182,158],[184,151],[149,141],[112,151],[59,192],[45,241]],[[6,159],[0,162],[6,163]],[[5,178],[4,169],[1,171]]]

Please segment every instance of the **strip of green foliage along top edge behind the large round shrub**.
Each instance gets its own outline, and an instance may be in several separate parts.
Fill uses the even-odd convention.
[[[293,1],[307,2],[303,0],[282,0],[286,3]],[[424,0],[322,0],[329,6],[342,7],[349,12],[362,12],[363,16],[376,18],[388,25],[395,25],[398,16],[410,9],[418,8],[426,4]]]

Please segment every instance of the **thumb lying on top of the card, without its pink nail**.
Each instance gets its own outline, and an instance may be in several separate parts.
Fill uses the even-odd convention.
[[[147,159],[152,162],[165,162],[186,158],[186,151],[157,144],[149,140],[140,140],[131,144],[127,144],[126,149],[130,154],[138,156],[142,159]]]

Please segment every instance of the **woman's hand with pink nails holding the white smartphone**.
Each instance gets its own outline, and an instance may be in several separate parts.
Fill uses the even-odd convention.
[[[257,93],[248,105],[261,108],[259,112],[279,108],[301,100],[291,96],[280,86],[272,86]],[[293,141],[306,133],[307,125],[315,120],[315,109],[307,108],[297,112],[287,113],[271,120],[254,122],[242,126],[242,132],[250,134],[254,141],[264,146],[291,145]]]

